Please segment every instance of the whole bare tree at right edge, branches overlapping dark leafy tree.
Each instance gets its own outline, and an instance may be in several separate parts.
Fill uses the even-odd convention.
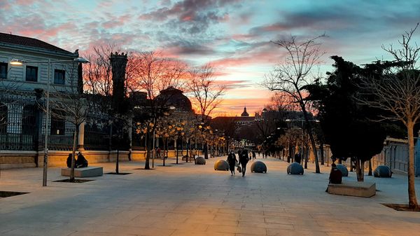
[[[374,99],[363,99],[359,102],[385,111],[381,120],[398,120],[407,127],[408,157],[408,195],[409,208],[418,208],[416,190],[414,189],[414,125],[420,119],[420,71],[416,64],[419,60],[420,47],[412,43],[412,37],[419,24],[402,34],[398,41],[400,48],[393,45],[386,48],[398,67],[388,69],[381,80],[362,78],[361,88]]]

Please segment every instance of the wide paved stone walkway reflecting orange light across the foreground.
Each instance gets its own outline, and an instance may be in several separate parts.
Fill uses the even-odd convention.
[[[120,172],[132,174],[86,183],[52,182],[64,177],[50,168],[48,187],[41,187],[42,168],[1,170],[0,190],[29,194],[0,199],[0,235],[420,235],[420,212],[380,204],[407,202],[406,176],[365,176],[377,195],[346,197],[325,193],[329,167],[314,174],[310,163],[293,176],[287,162],[269,158],[267,174],[242,178],[214,171],[215,160],[154,170],[122,162]],[[114,171],[113,163],[94,165]]]

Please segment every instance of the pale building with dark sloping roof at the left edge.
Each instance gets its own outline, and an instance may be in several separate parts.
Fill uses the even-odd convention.
[[[36,167],[48,148],[68,150],[74,125],[45,104],[60,95],[77,93],[79,65],[71,53],[38,39],[0,33],[0,161],[2,167]],[[19,62],[19,63],[10,63]],[[49,69],[49,71],[48,71]],[[49,82],[49,84],[48,84]],[[48,124],[45,125],[45,122]],[[46,130],[45,130],[46,128]]]

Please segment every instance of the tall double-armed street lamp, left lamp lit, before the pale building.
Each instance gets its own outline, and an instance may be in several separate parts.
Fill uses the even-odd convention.
[[[50,70],[52,63],[62,63],[62,62],[74,62],[74,63],[90,63],[83,57],[74,58],[74,60],[40,60],[40,61],[25,61],[20,59],[10,60],[10,64],[14,66],[22,66],[25,63],[47,63],[48,64],[48,76],[47,76],[47,95],[46,95],[46,107],[45,107],[45,135],[44,135],[44,158],[43,158],[43,177],[42,177],[42,186],[47,186],[47,165],[48,165],[48,117],[50,116]]]

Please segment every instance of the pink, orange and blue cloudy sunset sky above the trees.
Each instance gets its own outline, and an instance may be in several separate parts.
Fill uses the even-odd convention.
[[[128,52],[158,50],[191,67],[212,64],[227,85],[212,116],[253,116],[270,104],[261,83],[284,52],[270,41],[319,41],[321,74],[331,55],[355,64],[391,59],[381,46],[420,22],[420,1],[379,0],[0,0],[0,32],[41,39],[73,52],[115,43]],[[420,29],[414,40],[420,45]]]

